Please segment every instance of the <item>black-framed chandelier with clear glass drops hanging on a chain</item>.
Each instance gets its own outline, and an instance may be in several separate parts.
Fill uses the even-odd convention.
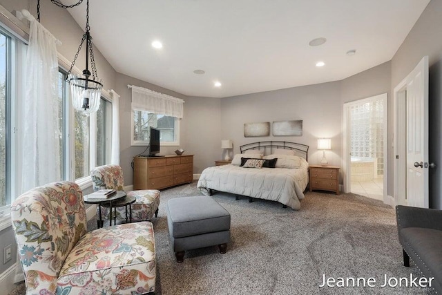
[[[63,3],[57,0],[51,0],[51,2],[61,8],[73,8],[74,6],[78,6],[81,2],[83,2],[83,0],[79,0],[77,3],[70,6],[65,6],[63,5]],[[39,3],[37,4],[37,8],[39,8]],[[37,9],[37,12],[39,16],[39,9]],[[97,68],[95,67],[95,59],[92,46],[92,37],[90,36],[89,0],[86,1],[85,31],[86,32],[81,39],[81,43],[78,46],[77,53],[75,54],[74,60],[68,71],[66,82],[70,84],[70,96],[74,108],[77,111],[81,111],[82,113],[89,115],[90,113],[95,113],[98,110],[103,88],[102,79],[99,79],[97,75]],[[75,61],[77,60],[77,57],[81,50],[81,46],[83,46],[84,41],[86,41],[86,68],[83,70],[83,75],[75,75],[71,72],[74,68]]]

